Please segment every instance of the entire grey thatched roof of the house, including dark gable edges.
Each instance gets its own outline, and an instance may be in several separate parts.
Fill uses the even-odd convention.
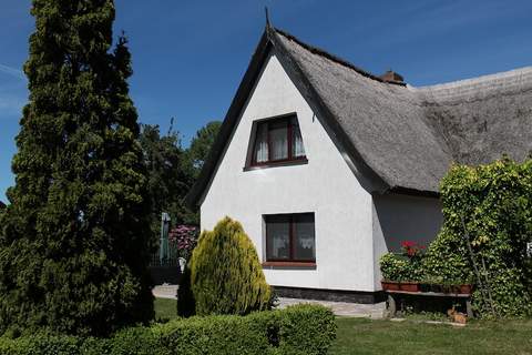
[[[437,195],[452,162],[522,160],[532,151],[532,67],[412,88],[267,27],[188,204],[207,189],[270,50],[357,168],[376,181],[370,192]]]

